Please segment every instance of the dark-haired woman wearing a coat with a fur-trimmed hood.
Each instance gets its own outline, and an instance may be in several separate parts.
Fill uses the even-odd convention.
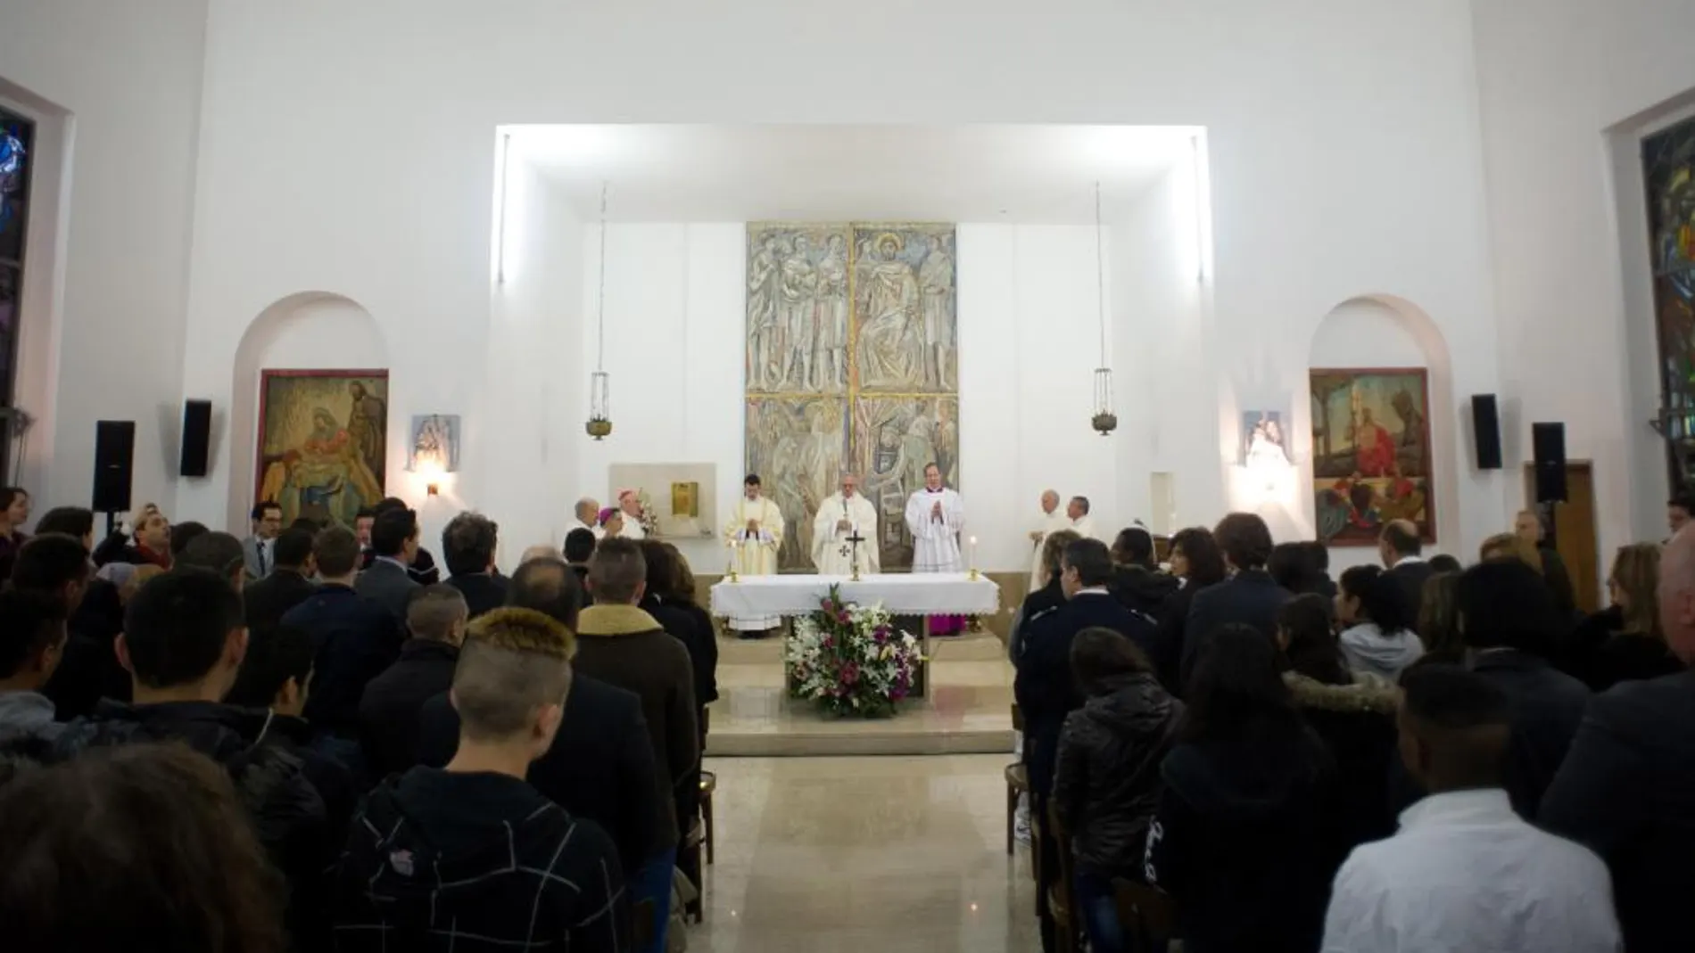
[[[1395,833],[1388,779],[1395,765],[1395,686],[1368,672],[1349,672],[1331,631],[1331,603],[1317,592],[1295,596],[1278,611],[1276,643],[1283,682],[1307,724],[1336,765],[1336,867],[1348,851]]]

